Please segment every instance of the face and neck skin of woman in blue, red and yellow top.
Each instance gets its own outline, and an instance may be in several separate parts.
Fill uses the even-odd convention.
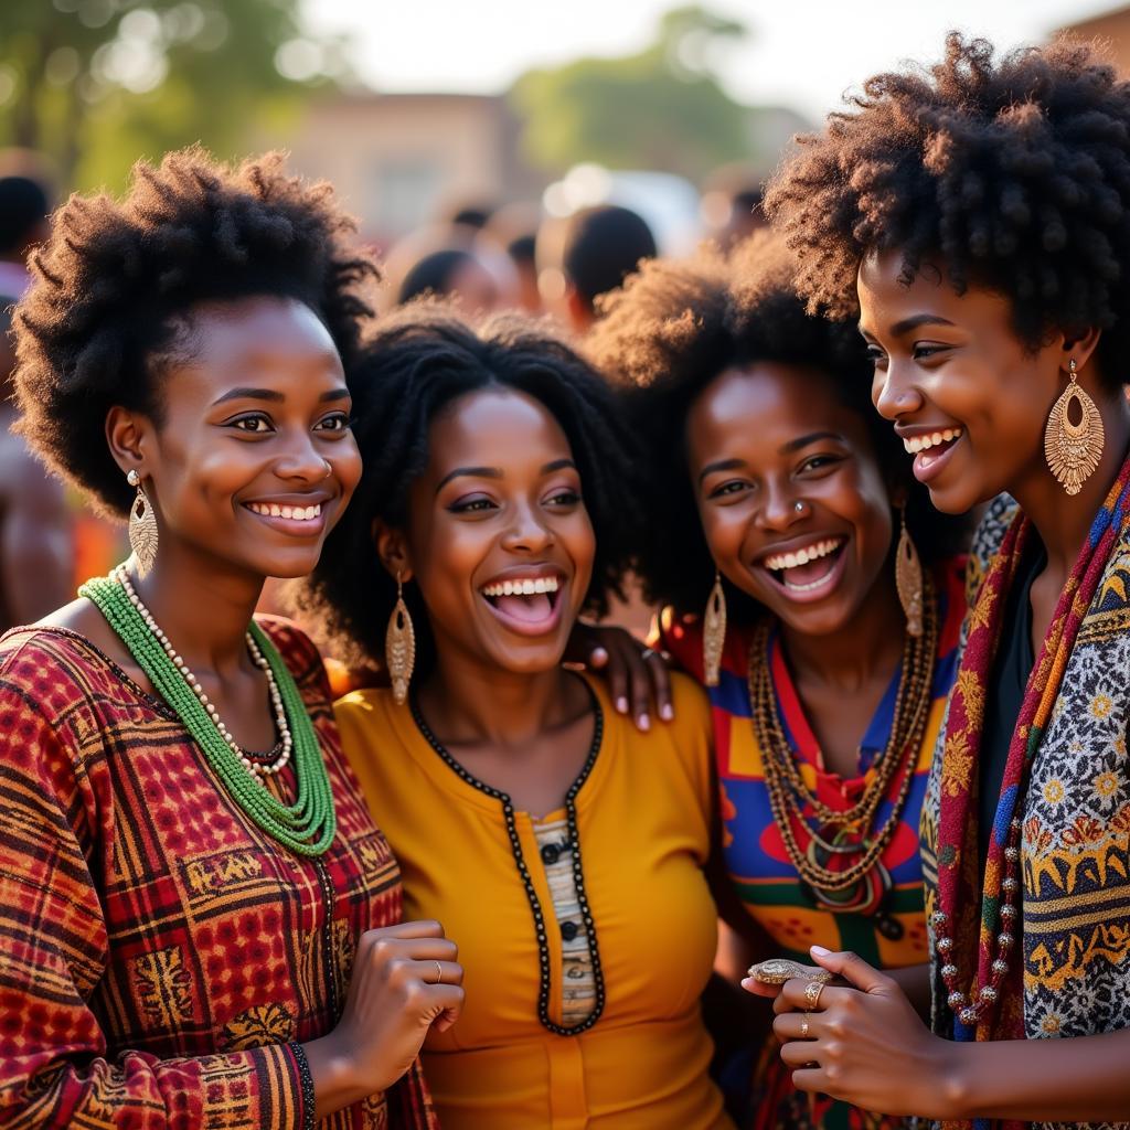
[[[714,563],[776,617],[825,765],[858,776],[859,742],[906,629],[889,566],[894,499],[866,421],[840,402],[827,374],[765,362],[712,381],[692,406],[686,435]],[[798,591],[785,580],[791,571],[767,568],[782,554],[828,541],[840,545],[835,564],[808,566],[828,575],[823,586]],[[744,910],[731,907],[727,920],[748,933]],[[768,956],[764,939],[751,940],[757,948],[731,956],[727,972]],[[921,994],[923,1008],[927,1000]]]

